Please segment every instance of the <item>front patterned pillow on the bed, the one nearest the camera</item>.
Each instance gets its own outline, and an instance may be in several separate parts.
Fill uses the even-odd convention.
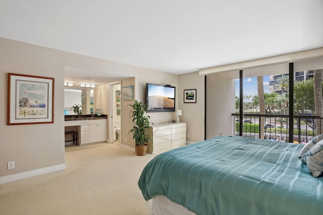
[[[312,176],[323,176],[323,139],[310,148],[300,159],[307,165]]]

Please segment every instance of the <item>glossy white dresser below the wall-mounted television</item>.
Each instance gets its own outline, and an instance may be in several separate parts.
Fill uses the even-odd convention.
[[[186,145],[186,123],[158,123],[149,129],[147,152],[166,152]]]

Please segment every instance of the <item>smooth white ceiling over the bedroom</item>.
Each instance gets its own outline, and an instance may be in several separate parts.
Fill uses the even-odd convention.
[[[0,37],[184,74],[323,47],[323,1],[0,0]]]

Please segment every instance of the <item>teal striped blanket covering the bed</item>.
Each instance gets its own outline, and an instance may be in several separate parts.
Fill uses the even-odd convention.
[[[138,181],[145,200],[165,195],[196,214],[323,214],[323,177],[303,145],[219,136],[153,158]]]

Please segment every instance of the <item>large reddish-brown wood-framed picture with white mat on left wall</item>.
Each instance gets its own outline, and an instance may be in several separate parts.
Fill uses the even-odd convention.
[[[54,78],[8,74],[8,125],[54,123]]]

